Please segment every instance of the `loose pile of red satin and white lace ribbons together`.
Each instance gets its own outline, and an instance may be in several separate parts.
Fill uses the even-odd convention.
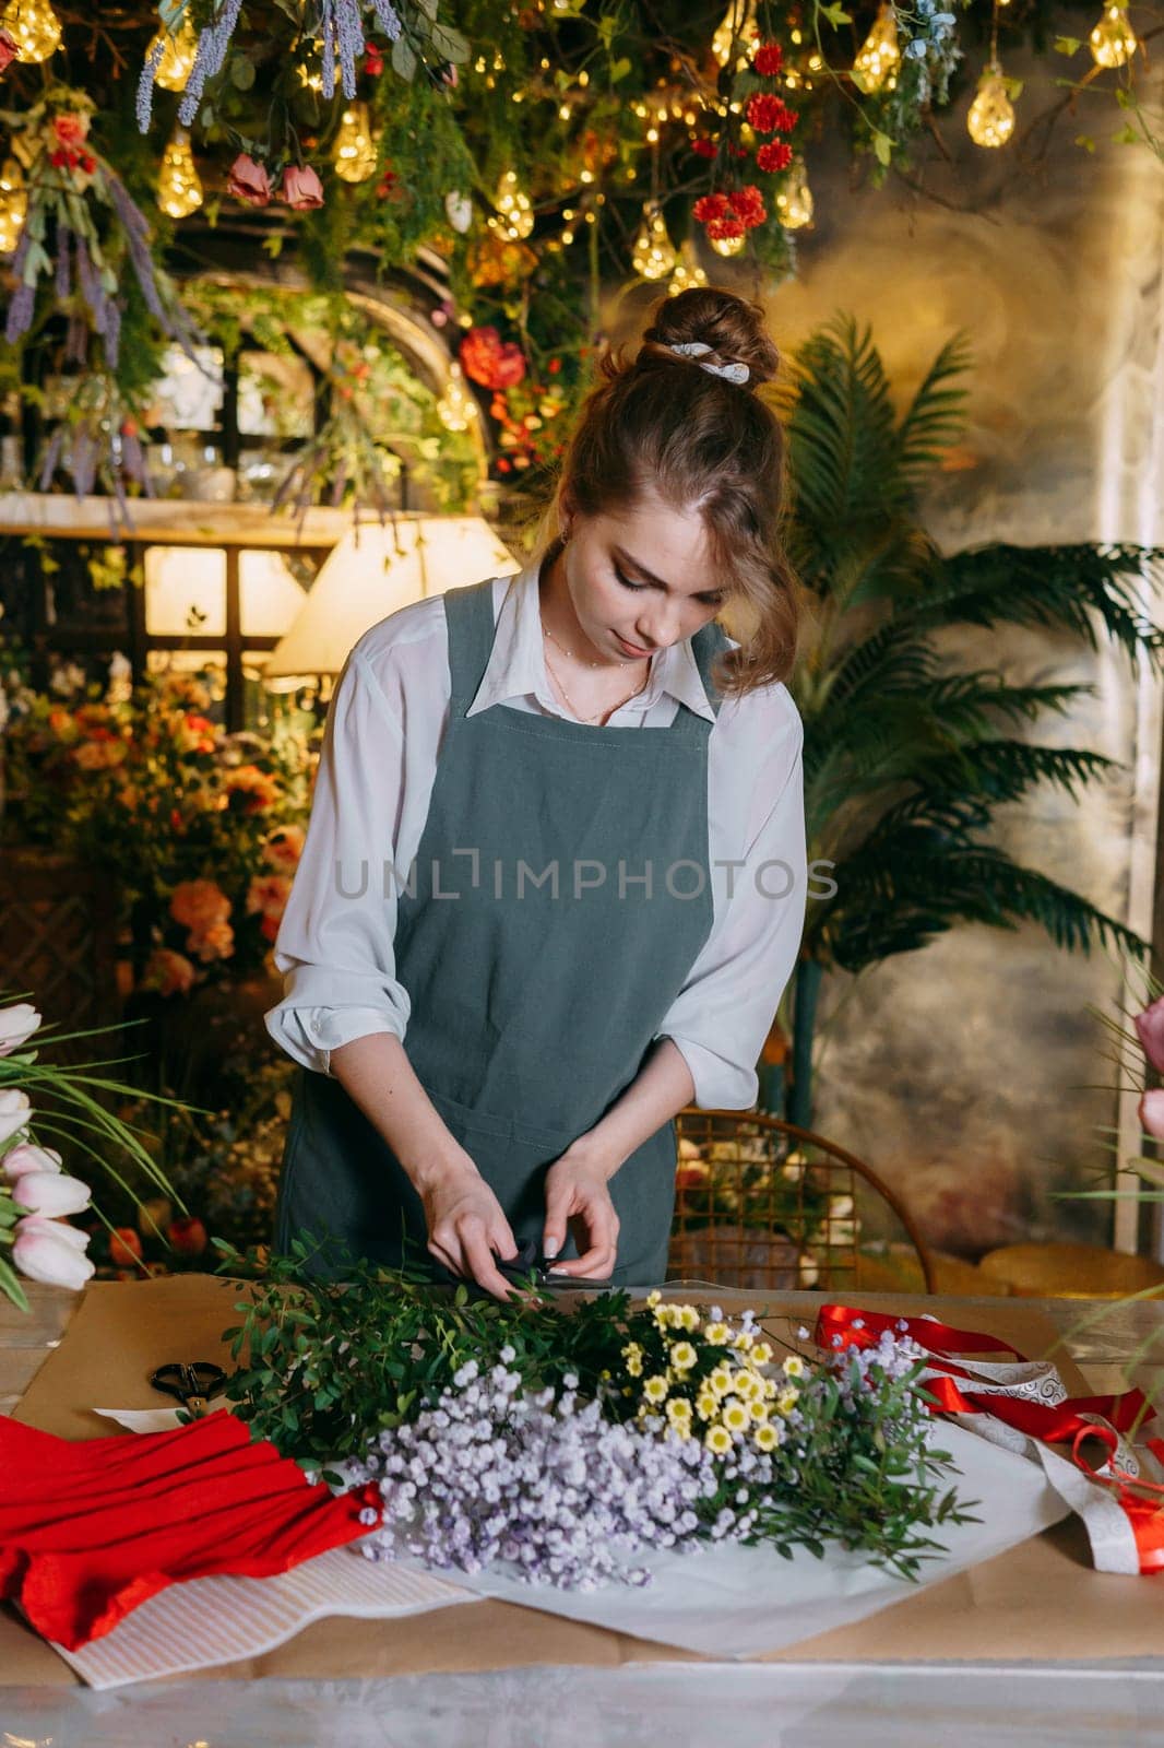
[[[1082,1517],[1098,1571],[1164,1570],[1164,1439],[1133,1444],[1155,1411],[1140,1390],[1070,1397],[1050,1360],[1028,1360],[998,1335],[953,1328],[937,1318],[895,1318],[827,1304],[816,1346],[872,1348],[884,1330],[909,1335],[928,1355],[921,1383],[933,1412],[1042,1465]],[[975,1355],[1008,1353],[1012,1360]],[[1063,1456],[1066,1447],[1070,1456]]]

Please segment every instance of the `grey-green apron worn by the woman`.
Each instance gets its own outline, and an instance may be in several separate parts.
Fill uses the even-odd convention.
[[[711,930],[711,724],[687,704],[666,729],[507,704],[467,717],[493,650],[493,584],[444,603],[451,711],[414,869],[395,871],[395,972],[409,1061],[523,1245],[542,1236],[547,1168],[636,1079]],[[717,711],[710,666],[724,647],[713,624],[692,638]],[[675,1161],[666,1122],[610,1182],[615,1285],[666,1274]],[[309,1070],[292,1099],[276,1246],[301,1231],[432,1266],[395,1154],[339,1080]]]

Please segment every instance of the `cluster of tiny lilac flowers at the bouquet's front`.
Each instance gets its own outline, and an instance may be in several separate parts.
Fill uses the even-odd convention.
[[[647,1584],[638,1557],[706,1540],[724,1465],[694,1439],[605,1419],[572,1383],[531,1391],[505,1362],[460,1367],[416,1421],[346,1465],[346,1486],[376,1479],[385,1502],[364,1552],[461,1571],[500,1563],[526,1584],[591,1591]],[[741,1536],[752,1523],[724,1505],[710,1535]]]

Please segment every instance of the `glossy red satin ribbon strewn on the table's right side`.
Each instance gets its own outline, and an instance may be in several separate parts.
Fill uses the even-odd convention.
[[[1119,1397],[1068,1397],[1064,1402],[1031,1402],[1024,1397],[1001,1395],[993,1390],[975,1390],[973,1377],[953,1362],[953,1355],[1008,1353],[1014,1360],[1029,1363],[1024,1353],[998,1335],[979,1330],[954,1328],[932,1318],[895,1318],[881,1311],[860,1311],[851,1306],[821,1306],[816,1318],[816,1346],[839,1353],[846,1348],[874,1348],[890,1330],[909,1335],[930,1355],[925,1388],[933,1397],[937,1414],[993,1414],[994,1419],[1040,1444],[1070,1444],[1071,1460],[1084,1474],[1105,1488],[1127,1516],[1141,1573],[1164,1570],[1164,1486],[1140,1481],[1122,1468],[1108,1467],[1099,1474],[1087,1461],[1087,1440],[1099,1439],[1108,1449],[1108,1463],[1115,1458],[1117,1432],[1127,1432],[1143,1418],[1152,1418],[1150,1404],[1141,1390],[1127,1390]],[[1147,1411],[1147,1414],[1145,1414]],[[1098,1426],[1085,1416],[1099,1416],[1108,1426]],[[1115,1430],[1113,1430],[1115,1428]],[[1148,1439],[1143,1449],[1164,1463],[1164,1439]]]

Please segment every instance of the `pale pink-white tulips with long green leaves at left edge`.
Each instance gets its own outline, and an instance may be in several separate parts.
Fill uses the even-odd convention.
[[[86,1255],[89,1234],[68,1222],[89,1206],[89,1185],[65,1173],[61,1154],[44,1145],[45,1136],[65,1136],[117,1182],[122,1178],[110,1155],[128,1155],[152,1183],[168,1189],[135,1131],[101,1103],[101,1096],[128,1091],[93,1072],[108,1065],[61,1068],[42,1063],[40,1052],[26,1047],[40,1030],[31,1002],[0,1007],[0,1292],[23,1311],[28,1299],[21,1274],[73,1290],[93,1274]],[[42,1040],[59,1044],[94,1035],[44,1028]],[[47,1106],[33,1110],[30,1092],[42,1094]]]

